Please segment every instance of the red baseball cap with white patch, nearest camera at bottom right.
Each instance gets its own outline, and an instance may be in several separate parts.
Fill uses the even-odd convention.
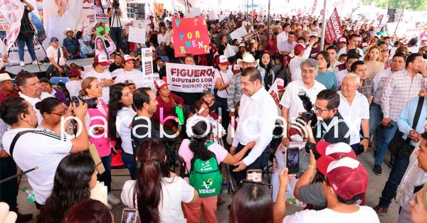
[[[339,160],[332,156],[321,156],[317,160],[317,170],[325,175],[334,192],[346,200],[367,192],[369,178],[362,163],[354,158]]]

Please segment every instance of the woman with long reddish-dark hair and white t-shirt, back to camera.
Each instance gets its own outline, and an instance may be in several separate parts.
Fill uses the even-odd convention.
[[[122,202],[137,208],[142,222],[186,222],[181,202],[199,200],[196,190],[169,171],[164,146],[147,139],[137,148],[137,180],[123,185]]]

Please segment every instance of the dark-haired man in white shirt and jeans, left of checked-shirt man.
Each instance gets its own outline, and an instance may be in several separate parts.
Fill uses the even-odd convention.
[[[369,108],[369,117],[371,117],[369,119],[369,137],[374,134],[378,124],[383,118],[383,113],[381,111],[381,97],[386,80],[392,73],[404,69],[405,60],[406,55],[404,53],[395,54],[391,60],[391,67],[379,72],[374,77],[374,102],[372,102],[371,107]]]

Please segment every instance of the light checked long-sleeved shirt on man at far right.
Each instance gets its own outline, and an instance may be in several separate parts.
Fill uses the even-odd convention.
[[[426,89],[426,78],[416,74],[411,80],[411,74],[404,69],[394,72],[386,80],[384,93],[381,97],[381,109],[384,118],[397,121],[401,110],[413,97],[417,97],[421,89]]]

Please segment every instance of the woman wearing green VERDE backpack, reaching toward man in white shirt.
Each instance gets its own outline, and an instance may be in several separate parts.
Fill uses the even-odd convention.
[[[225,148],[217,143],[211,144],[209,147],[206,147],[206,143],[209,142],[209,136],[211,135],[211,129],[208,129],[206,121],[199,121],[194,126],[191,127],[192,136],[191,141],[189,139],[184,139],[181,146],[179,146],[178,154],[181,158],[181,161],[185,162],[185,173],[188,173],[191,169],[191,159],[193,156],[198,158],[211,157],[215,156],[216,161],[219,163],[227,163],[234,165],[240,161],[245,153],[255,146],[255,142],[248,143],[242,151],[235,154],[234,156],[228,153]],[[189,178],[184,178],[189,180]],[[187,222],[201,222],[201,209],[203,208],[204,222],[218,222],[216,219],[216,202],[218,201],[218,195],[210,197],[199,197],[198,202],[184,204],[184,211],[186,214]]]

